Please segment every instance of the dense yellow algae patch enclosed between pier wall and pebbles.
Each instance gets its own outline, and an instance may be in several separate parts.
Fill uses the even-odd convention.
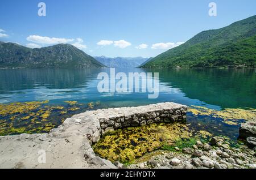
[[[209,132],[204,133],[209,135]],[[191,138],[200,136],[200,132],[194,134],[184,123],[160,123],[110,132],[94,144],[93,149],[97,155],[112,162],[133,163],[158,149],[174,148],[177,143],[186,147],[194,145],[196,140]]]

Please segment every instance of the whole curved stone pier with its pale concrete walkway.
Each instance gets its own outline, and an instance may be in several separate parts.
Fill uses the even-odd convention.
[[[186,110],[173,102],[98,109],[73,115],[48,134],[1,136],[0,168],[117,168],[93,152],[91,145],[101,135],[129,126],[183,121]]]

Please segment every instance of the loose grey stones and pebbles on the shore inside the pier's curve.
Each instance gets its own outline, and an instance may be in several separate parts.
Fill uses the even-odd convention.
[[[177,149],[177,147],[176,147]],[[256,169],[255,152],[246,146],[232,148],[228,140],[213,137],[210,143],[197,141],[193,148],[184,148],[182,152],[166,152],[153,156],[148,161],[129,165],[128,168],[144,169]]]

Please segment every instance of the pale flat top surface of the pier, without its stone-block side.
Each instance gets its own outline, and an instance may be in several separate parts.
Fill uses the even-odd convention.
[[[118,117],[124,116],[130,119],[131,109],[137,110],[136,113],[141,111],[141,113],[154,114],[155,111],[161,111],[168,116],[170,111],[186,108],[187,106],[166,102],[135,108],[103,110],[106,113],[110,112],[108,114],[110,119],[113,118],[113,115],[110,115],[114,110],[118,110],[120,115],[120,110],[123,109],[128,114]],[[0,149],[3,150],[0,153],[0,168],[117,168],[112,162],[96,156],[91,147],[101,136],[101,123],[103,123],[99,121],[101,113],[100,109],[73,115],[62,125],[52,129],[49,134],[1,136]],[[169,116],[173,117],[171,114]],[[150,119],[152,118],[148,120]],[[46,152],[46,163],[43,164],[38,161],[41,150]]]

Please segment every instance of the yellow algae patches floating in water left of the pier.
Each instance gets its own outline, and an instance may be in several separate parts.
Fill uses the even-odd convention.
[[[66,118],[97,108],[97,105],[78,104],[77,101],[54,105],[49,104],[48,100],[0,104],[0,135],[49,132]]]

